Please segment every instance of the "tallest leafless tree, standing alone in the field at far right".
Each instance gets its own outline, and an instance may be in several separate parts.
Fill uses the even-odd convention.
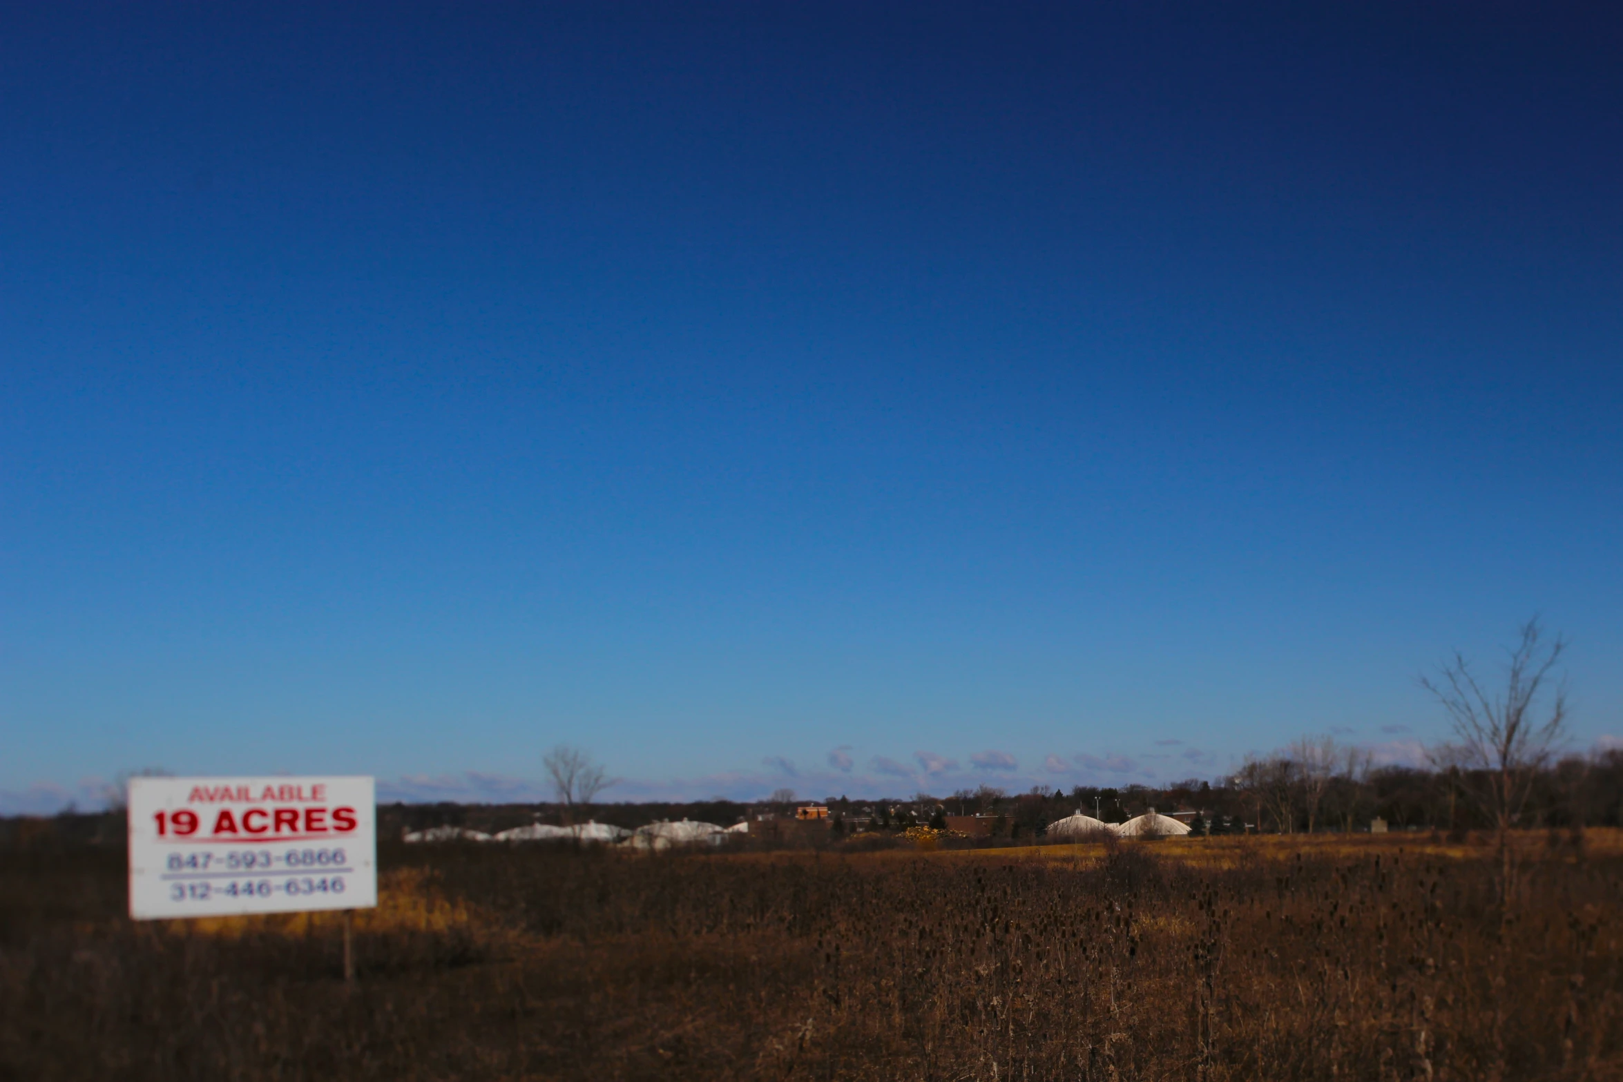
[[[1553,696],[1545,696],[1566,642],[1558,634],[1545,646],[1542,633],[1537,616],[1522,625],[1521,642],[1506,660],[1505,688],[1492,696],[1457,650],[1436,680],[1420,676],[1420,686],[1436,696],[1454,728],[1456,743],[1446,758],[1482,780],[1469,792],[1498,832],[1501,908],[1511,900],[1511,827],[1566,725],[1566,681],[1555,681]]]

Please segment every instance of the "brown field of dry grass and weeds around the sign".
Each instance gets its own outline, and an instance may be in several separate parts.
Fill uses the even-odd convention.
[[[357,915],[131,925],[0,853],[5,1079],[1623,1079],[1623,832],[385,847]]]

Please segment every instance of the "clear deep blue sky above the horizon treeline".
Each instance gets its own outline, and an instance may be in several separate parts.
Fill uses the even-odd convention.
[[[0,809],[1623,733],[1607,5],[0,13]],[[1013,762],[1013,766],[1011,766]]]

